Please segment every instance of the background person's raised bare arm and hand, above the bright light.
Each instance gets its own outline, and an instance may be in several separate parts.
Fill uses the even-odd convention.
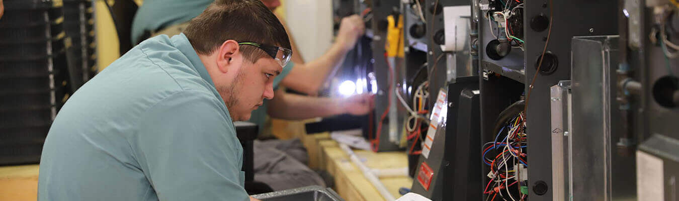
[[[356,41],[365,32],[365,22],[358,15],[342,19],[337,33],[337,39],[330,49],[316,60],[300,64],[295,62],[295,68],[282,80],[281,84],[287,88],[305,94],[316,95],[325,80],[338,69]],[[293,50],[293,62],[295,59]]]

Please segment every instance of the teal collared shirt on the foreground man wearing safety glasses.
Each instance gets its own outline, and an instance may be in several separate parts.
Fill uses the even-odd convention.
[[[38,200],[249,200],[229,111],[185,35],[144,41],[56,116]]]

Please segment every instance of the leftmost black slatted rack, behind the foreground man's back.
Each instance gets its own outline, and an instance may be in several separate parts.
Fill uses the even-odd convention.
[[[5,1],[0,20],[0,165],[37,163],[69,75],[60,1]]]

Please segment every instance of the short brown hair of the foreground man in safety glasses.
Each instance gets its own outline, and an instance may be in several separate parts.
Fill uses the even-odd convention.
[[[285,28],[259,0],[217,0],[192,19],[183,33],[199,54],[212,54],[227,40],[291,49]],[[268,56],[252,45],[240,45],[240,52],[251,62]]]

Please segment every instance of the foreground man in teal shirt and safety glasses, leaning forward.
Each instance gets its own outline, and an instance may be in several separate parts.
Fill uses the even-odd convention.
[[[39,200],[248,200],[233,121],[273,98],[290,48],[259,0],[217,0],[137,45],[58,113]]]

